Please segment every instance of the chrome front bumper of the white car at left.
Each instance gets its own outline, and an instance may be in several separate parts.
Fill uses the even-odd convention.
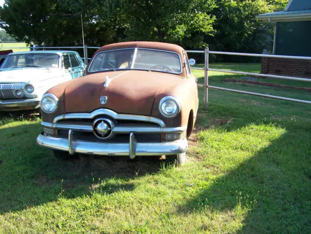
[[[18,111],[25,109],[37,109],[39,107],[39,98],[0,100],[0,111]]]

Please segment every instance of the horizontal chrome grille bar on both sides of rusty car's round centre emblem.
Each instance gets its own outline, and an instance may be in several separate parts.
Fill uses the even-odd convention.
[[[46,128],[55,128],[62,130],[72,129],[73,131],[78,132],[93,132],[92,123],[49,123],[41,122],[42,127]],[[112,132],[115,134],[156,134],[156,133],[183,133],[187,129],[187,126],[183,127],[160,127],[154,125],[131,125],[131,124],[118,124],[113,129]]]

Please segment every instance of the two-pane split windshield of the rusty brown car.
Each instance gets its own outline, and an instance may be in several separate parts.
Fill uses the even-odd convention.
[[[181,59],[177,53],[151,49],[121,49],[98,53],[89,72],[121,69],[152,70],[180,74]]]

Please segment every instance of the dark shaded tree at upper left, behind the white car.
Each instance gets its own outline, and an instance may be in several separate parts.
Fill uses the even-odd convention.
[[[0,26],[10,35],[28,44],[81,45],[82,15],[87,44],[114,42],[116,33],[110,29],[109,20],[97,20],[97,1],[81,0],[81,4],[77,4],[79,1],[74,2],[69,7],[61,0],[6,0],[3,7],[0,7]]]

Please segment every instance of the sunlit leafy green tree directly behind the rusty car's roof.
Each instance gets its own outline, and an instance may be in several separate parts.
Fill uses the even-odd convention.
[[[214,17],[207,14],[214,7],[214,0],[118,0],[110,13],[122,16],[119,22],[127,40],[202,48],[204,36],[214,33]]]

